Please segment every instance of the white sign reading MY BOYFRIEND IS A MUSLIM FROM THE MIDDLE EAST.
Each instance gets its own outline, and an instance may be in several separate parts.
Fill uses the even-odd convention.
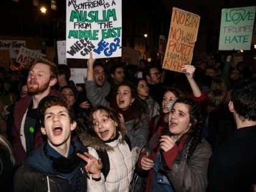
[[[66,1],[66,58],[121,57],[122,1]]]

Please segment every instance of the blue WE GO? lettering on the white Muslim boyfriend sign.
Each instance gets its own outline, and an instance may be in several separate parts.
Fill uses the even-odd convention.
[[[110,57],[117,48],[121,48],[120,39],[116,37],[112,43],[107,43],[104,40],[99,41],[98,48],[93,49],[98,55],[103,51],[104,55]]]

